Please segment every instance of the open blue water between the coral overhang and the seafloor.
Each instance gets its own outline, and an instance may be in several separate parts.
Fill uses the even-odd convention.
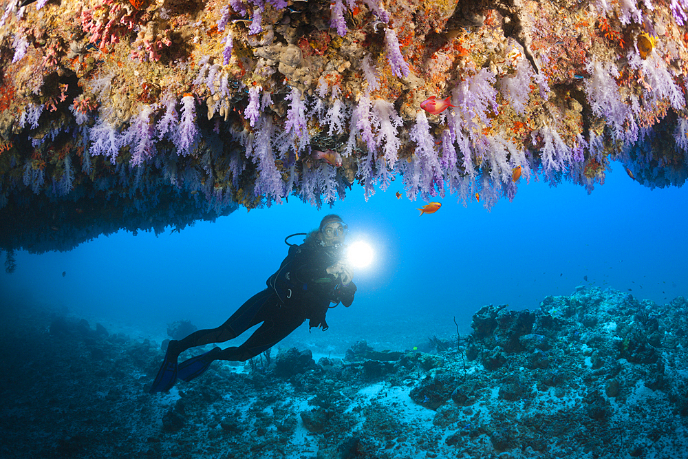
[[[352,308],[328,315],[340,331],[399,318],[437,319],[453,329],[457,317],[467,332],[484,304],[534,309],[547,295],[588,284],[660,303],[688,295],[688,190],[650,190],[621,164],[612,167],[590,195],[568,183],[550,188],[522,179],[515,200],[499,201],[491,212],[447,196],[438,199],[438,212],[419,217],[422,202],[398,200],[394,183],[368,202],[354,186],[332,209],[292,198],[181,233],[120,231],[67,253],[18,252],[17,271],[0,274],[0,301],[109,317],[161,334],[178,319],[215,327],[265,288],[286,255],[284,237],[316,228],[327,213],[349,224],[350,241],[365,239],[375,250],[372,266],[355,273]]]

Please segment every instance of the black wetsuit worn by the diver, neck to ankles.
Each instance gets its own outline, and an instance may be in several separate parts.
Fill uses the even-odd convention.
[[[179,352],[236,338],[262,322],[244,344],[213,354],[214,360],[246,361],[287,337],[305,319],[310,319],[311,328],[322,326],[323,330],[327,330],[325,314],[330,303],[336,305],[341,302],[346,307],[351,306],[356,286],[353,282],[343,286],[334,275],[327,274],[326,269],[338,259],[337,250],[303,244],[294,251],[290,277],[300,288],[294,289],[290,299],[280,300],[270,286],[270,279],[275,276],[272,275],[266,282],[268,288],[250,297],[224,324],[209,330],[198,330],[179,341]]]

